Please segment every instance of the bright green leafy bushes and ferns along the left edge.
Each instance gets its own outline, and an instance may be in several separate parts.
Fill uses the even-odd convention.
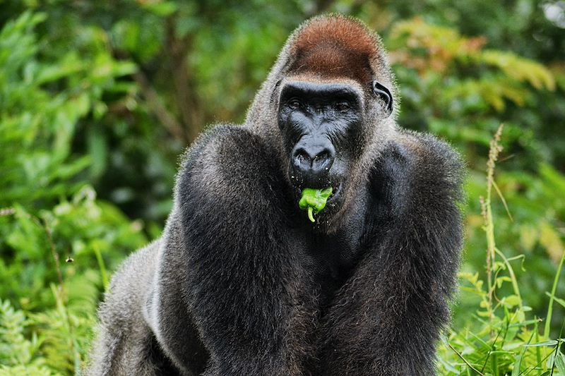
[[[142,222],[96,200],[81,178],[95,159],[72,150],[78,123],[103,116],[102,97],[136,67],[104,49],[45,57],[35,33],[45,20],[25,12],[0,31],[0,375],[79,372],[100,266],[147,241]]]

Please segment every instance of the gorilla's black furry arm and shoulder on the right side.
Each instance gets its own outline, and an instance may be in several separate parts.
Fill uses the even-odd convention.
[[[369,251],[323,322],[323,375],[434,375],[432,349],[456,286],[461,165],[431,136],[399,141],[371,176]]]

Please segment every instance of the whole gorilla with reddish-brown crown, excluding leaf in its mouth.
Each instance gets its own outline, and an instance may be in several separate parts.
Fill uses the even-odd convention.
[[[100,308],[92,375],[434,375],[461,248],[461,163],[396,126],[379,37],[295,31],[243,126],[186,152],[162,238]],[[305,188],[332,188],[311,222]]]

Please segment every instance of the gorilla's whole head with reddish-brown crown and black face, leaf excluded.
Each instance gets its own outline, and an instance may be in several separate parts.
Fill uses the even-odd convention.
[[[335,224],[394,128],[393,76],[378,37],[356,20],[314,18],[286,46],[248,123],[280,148],[295,200],[333,188],[319,222]]]

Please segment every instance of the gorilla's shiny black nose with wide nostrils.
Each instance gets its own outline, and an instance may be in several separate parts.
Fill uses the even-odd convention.
[[[292,167],[304,178],[328,174],[334,159],[335,148],[327,138],[302,138],[292,150]]]

